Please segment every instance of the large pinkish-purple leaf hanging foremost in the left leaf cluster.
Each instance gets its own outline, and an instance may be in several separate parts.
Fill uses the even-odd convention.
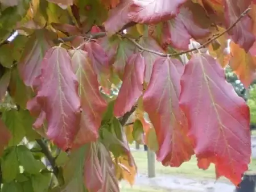
[[[71,147],[80,123],[78,82],[66,49],[48,49],[42,62],[42,85],[36,99],[46,112],[47,136],[63,150]]]

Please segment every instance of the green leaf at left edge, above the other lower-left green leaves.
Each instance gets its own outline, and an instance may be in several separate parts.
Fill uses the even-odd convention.
[[[2,120],[11,132],[12,137],[9,141],[9,146],[18,145],[26,135],[19,112],[15,109],[5,111],[3,112]]]

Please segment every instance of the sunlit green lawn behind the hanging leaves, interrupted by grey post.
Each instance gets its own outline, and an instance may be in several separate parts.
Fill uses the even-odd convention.
[[[133,151],[135,162],[138,166],[140,174],[147,174],[147,152],[142,150]],[[254,159],[249,165],[250,170],[256,170],[256,160]],[[184,176],[198,179],[215,179],[214,165],[210,165],[207,170],[202,170],[197,167],[197,160],[192,156],[191,160],[184,162],[179,168],[171,168],[170,166],[163,166],[160,162],[155,161],[155,173],[157,175],[168,174],[170,176]]]

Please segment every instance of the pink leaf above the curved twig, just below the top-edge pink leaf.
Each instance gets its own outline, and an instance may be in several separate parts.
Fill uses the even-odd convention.
[[[210,31],[200,27],[193,19],[193,12],[188,7],[181,7],[179,14],[174,19],[164,23],[163,43],[172,47],[187,50],[190,39],[199,39],[207,36]]]

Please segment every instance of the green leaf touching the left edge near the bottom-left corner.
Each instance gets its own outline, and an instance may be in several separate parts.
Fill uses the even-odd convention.
[[[1,161],[2,177],[6,182],[13,181],[19,173],[19,161],[16,147],[11,147],[10,152],[3,156]]]

